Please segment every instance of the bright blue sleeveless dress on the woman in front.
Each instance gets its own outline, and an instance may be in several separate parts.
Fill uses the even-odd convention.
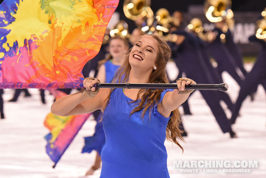
[[[161,93],[160,102],[167,91]],[[169,178],[167,152],[164,146],[170,117],[163,117],[157,105],[143,120],[122,89],[114,89],[103,113],[102,171],[100,178]],[[136,101],[137,103],[139,101]]]

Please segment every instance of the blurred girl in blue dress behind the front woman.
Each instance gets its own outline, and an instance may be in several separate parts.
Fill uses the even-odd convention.
[[[106,59],[99,61],[99,70],[97,79],[103,83],[111,83],[118,68],[123,64],[125,55],[128,52],[129,43],[125,38],[115,36],[109,39],[108,51],[109,55]],[[100,111],[100,110],[98,110]],[[92,150],[97,151],[94,165],[86,172],[86,175],[92,175],[93,172],[100,168],[101,152],[103,144],[105,143],[105,135],[103,131],[103,122],[99,122],[100,113],[96,111],[93,114],[96,117],[97,124],[95,126],[95,133],[91,137],[85,137],[85,145],[82,153],[90,153]]]

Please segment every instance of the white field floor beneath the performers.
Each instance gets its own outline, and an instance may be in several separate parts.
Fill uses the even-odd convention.
[[[245,64],[250,70],[251,64]],[[175,78],[178,71],[173,63],[168,64],[170,77]],[[239,86],[227,73],[223,73],[224,82],[229,85],[228,94],[233,102],[238,96]],[[4,111],[6,119],[0,120],[0,178],[85,178],[83,176],[89,167],[93,165],[96,152],[81,154],[83,137],[93,135],[96,122],[89,118],[83,125],[72,144],[69,146],[55,169],[53,162],[45,152],[48,129],[43,126],[46,114],[50,111],[53,96],[46,91],[47,104],[42,104],[38,89],[29,89],[30,98],[24,98],[24,93],[16,103],[8,102],[14,91],[5,89]],[[240,111],[233,130],[239,138],[230,139],[229,134],[223,134],[215,121],[208,105],[197,91],[189,99],[193,115],[184,115],[185,129],[188,137],[186,143],[181,143],[184,148],[166,141],[168,151],[168,170],[171,178],[265,178],[266,177],[266,95],[263,87],[258,86],[258,91],[253,102],[247,97]],[[221,103],[228,118],[231,113],[224,103]],[[183,108],[180,107],[183,113]],[[119,158],[118,158],[119,159]],[[249,173],[224,173],[223,169],[215,168],[175,168],[173,162],[183,160],[197,161],[258,161],[257,168],[242,168]],[[193,171],[197,173],[184,173]],[[245,170],[246,169],[246,170]],[[249,169],[249,170],[248,170]],[[232,170],[233,171],[233,170]],[[100,170],[87,178],[99,177]]]

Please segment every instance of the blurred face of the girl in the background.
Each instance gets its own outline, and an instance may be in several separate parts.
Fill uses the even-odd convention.
[[[125,55],[128,48],[122,39],[112,39],[109,44],[109,51],[112,57],[116,58]]]

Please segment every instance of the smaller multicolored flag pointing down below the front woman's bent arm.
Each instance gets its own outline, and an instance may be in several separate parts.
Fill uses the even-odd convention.
[[[50,90],[50,92],[56,96],[56,99],[67,95],[54,89]],[[44,125],[50,130],[50,133],[44,137],[47,140],[46,153],[54,162],[53,168],[89,116],[90,113],[72,116],[58,116],[49,113],[46,116]]]

